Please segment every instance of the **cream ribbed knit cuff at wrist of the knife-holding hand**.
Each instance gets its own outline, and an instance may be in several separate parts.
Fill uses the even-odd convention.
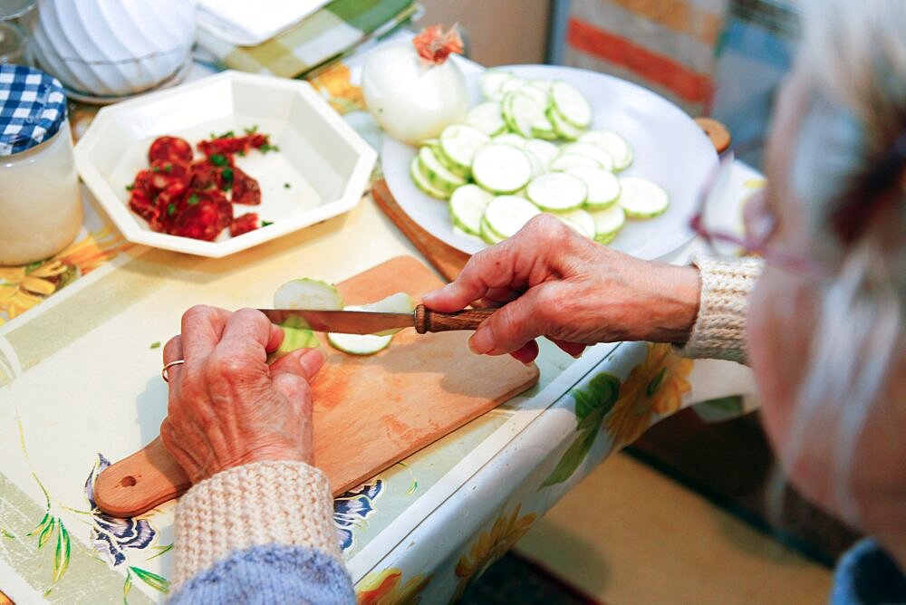
[[[758,258],[717,260],[697,256],[701,294],[699,315],[689,341],[679,347],[685,357],[746,363],[748,295],[764,263]]]

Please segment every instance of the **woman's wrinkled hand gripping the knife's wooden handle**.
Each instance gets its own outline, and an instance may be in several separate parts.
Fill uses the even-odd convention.
[[[699,274],[595,244],[541,215],[475,254],[455,282],[423,301],[439,312],[502,304],[469,347],[527,363],[538,353],[538,336],[573,356],[597,342],[685,342],[699,310]]]

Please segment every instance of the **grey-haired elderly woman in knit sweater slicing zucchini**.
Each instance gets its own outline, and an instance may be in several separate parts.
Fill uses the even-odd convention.
[[[873,536],[843,558],[834,602],[901,601],[906,4],[804,4],[769,186],[747,212],[747,247],[764,264],[649,263],[540,216],[425,303],[501,304],[471,338],[480,354],[532,360],[545,336],[573,354],[648,340],[747,362],[790,479]],[[308,380],[323,359],[302,351],[268,367],[280,338],[254,311],[196,308],[164,351],[185,364],[171,372],[161,434],[197,483],[178,507],[174,601],[354,599],[327,482],[311,466]]]

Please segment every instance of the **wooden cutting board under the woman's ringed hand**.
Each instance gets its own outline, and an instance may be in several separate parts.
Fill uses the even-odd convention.
[[[346,304],[400,291],[419,299],[442,285],[427,266],[399,256],[337,285]],[[400,331],[390,347],[356,357],[326,344],[326,362],[313,381],[314,462],[334,495],[377,475],[406,456],[533,386],[538,369],[504,355],[468,351],[470,331],[419,335]],[[190,486],[159,437],[101,473],[95,497],[102,511],[134,516]]]

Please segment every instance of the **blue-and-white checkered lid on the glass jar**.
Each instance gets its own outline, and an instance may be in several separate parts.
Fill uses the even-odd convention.
[[[50,140],[66,120],[59,80],[24,65],[0,65],[0,156]]]

